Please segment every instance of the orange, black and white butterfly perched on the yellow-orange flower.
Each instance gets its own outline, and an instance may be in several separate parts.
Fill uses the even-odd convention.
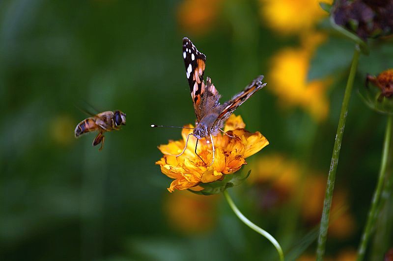
[[[191,98],[194,104],[195,115],[197,116],[197,126],[194,131],[187,136],[186,145],[183,151],[176,157],[182,155],[187,148],[187,142],[191,135],[197,138],[195,153],[197,154],[198,140],[202,138],[210,138],[212,143],[212,163],[214,163],[214,143],[213,137],[220,131],[225,133],[222,129],[225,121],[229,116],[250,98],[256,91],[262,89],[266,83],[263,83],[263,75],[259,75],[240,93],[234,95],[230,100],[220,103],[221,95],[218,93],[216,87],[209,77],[206,78],[206,83],[203,80],[203,73],[206,67],[206,56],[197,50],[197,47],[187,37],[183,38],[183,60],[186,68],[186,76],[188,85],[191,91]],[[152,125],[156,127],[157,125]],[[158,127],[158,126],[157,126]],[[229,136],[225,133],[225,135]],[[233,136],[229,136],[234,138]],[[197,154],[202,160],[202,158]],[[202,160],[202,162],[204,162]],[[205,163],[206,165],[206,163]]]

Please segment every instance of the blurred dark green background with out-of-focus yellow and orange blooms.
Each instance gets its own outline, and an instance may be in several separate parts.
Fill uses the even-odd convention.
[[[1,260],[277,260],[222,195],[169,193],[154,164],[157,146],[180,131],[150,124],[195,121],[184,36],[206,54],[223,100],[265,75],[236,115],[270,144],[230,193],[288,260],[312,260],[354,48],[327,17],[316,0],[0,1]],[[393,45],[375,42],[370,53],[341,148],[332,260],[355,257],[380,163],[386,117],[357,89],[366,73],[393,67]],[[87,104],[127,114],[101,152],[93,134],[74,138],[87,117],[75,105]],[[370,249],[393,246],[387,202]]]

